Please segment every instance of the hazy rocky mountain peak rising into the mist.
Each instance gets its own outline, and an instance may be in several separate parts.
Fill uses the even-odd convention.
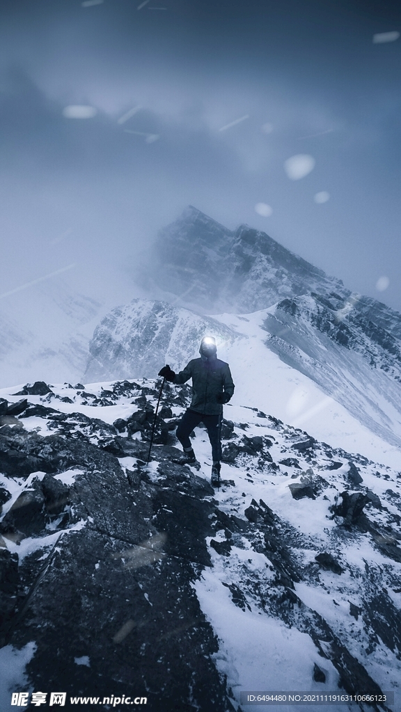
[[[255,312],[310,290],[350,295],[264,232],[248,225],[230,231],[193,206],[160,231],[138,280],[156,298],[215,314]]]

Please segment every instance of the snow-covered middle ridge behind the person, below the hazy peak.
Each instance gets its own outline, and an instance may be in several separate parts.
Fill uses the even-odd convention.
[[[198,357],[201,337],[215,335],[218,357],[230,363],[233,373],[233,404],[252,407],[258,402],[285,422],[308,427],[319,440],[397,466],[399,405],[387,375],[382,373],[387,390],[377,392],[377,370],[357,352],[338,350],[328,339],[325,347],[313,330],[308,339],[318,353],[307,375],[272,350],[265,327],[272,313],[260,310],[210,318],[167,303],[133,300],[113,310],[96,328],[86,378],[149,377],[165,363],[181,370]],[[311,362],[304,355],[304,360],[308,358]],[[318,359],[323,360],[322,366]],[[319,368],[323,375],[318,378]],[[393,389],[397,388],[395,382]],[[377,399],[375,407],[370,404],[372,397]]]

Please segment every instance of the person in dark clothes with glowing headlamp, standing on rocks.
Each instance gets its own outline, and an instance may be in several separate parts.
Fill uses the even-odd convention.
[[[212,446],[212,485],[220,484],[221,441],[223,404],[233,396],[234,384],[228,363],[217,357],[215,339],[203,337],[200,342],[200,358],[193,359],[183,371],[175,373],[170,366],[163,366],[158,375],[174,384],[186,383],[192,378],[191,405],[183,414],[177,428],[177,437],[187,455],[187,462],[196,462],[189,434],[200,422],[206,426]]]

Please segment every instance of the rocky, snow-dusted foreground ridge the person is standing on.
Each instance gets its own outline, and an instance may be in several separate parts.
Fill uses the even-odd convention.
[[[205,430],[196,466],[176,447],[190,389],[170,384],[146,466],[160,385],[3,392],[1,710],[57,690],[240,712],[260,689],[399,710],[401,473],[256,403],[225,407],[213,490]]]

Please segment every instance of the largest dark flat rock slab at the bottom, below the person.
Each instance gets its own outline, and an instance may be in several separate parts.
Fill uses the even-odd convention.
[[[132,519],[131,533],[135,527]],[[162,556],[156,532],[139,536],[135,546],[85,529],[60,541],[23,624],[12,632],[13,644],[36,642],[31,684],[36,690],[73,685],[84,695],[95,676],[101,698],[111,691],[132,699],[144,694],[152,712],[190,712],[193,700],[207,710],[212,701],[215,712],[226,712],[225,684],[212,657],[218,642],[191,587],[191,568]],[[73,664],[82,655],[90,668]]]

